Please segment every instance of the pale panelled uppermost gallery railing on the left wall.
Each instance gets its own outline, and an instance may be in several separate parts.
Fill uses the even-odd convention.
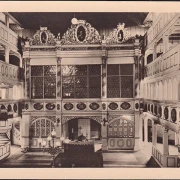
[[[9,45],[12,49],[17,49],[18,35],[10,28],[0,22],[0,40],[4,45]]]

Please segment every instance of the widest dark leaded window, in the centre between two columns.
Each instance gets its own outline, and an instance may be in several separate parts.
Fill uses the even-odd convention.
[[[100,98],[101,65],[62,66],[63,98]]]

